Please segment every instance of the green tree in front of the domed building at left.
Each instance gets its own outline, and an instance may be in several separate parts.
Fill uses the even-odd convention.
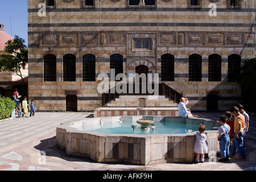
[[[5,46],[5,52],[0,56],[0,71],[9,71],[20,76],[25,85],[22,72],[22,67],[28,63],[27,46],[25,40],[15,35],[13,40],[8,40]]]

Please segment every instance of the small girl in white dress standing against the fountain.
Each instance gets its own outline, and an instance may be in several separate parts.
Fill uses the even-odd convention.
[[[204,133],[206,127],[203,124],[198,126],[199,132],[196,133],[196,142],[194,144],[194,151],[196,152],[196,163],[204,162],[204,154],[208,153],[208,145],[205,139],[207,135]],[[199,160],[201,154],[201,160]]]

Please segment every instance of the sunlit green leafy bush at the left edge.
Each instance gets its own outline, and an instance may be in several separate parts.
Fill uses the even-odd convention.
[[[9,118],[15,109],[15,102],[9,97],[0,97],[0,119]]]

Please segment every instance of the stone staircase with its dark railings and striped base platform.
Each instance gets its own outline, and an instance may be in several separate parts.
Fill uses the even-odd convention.
[[[155,86],[159,86],[158,96],[148,93],[129,93],[129,90],[126,90],[126,94],[120,94],[111,92],[112,89],[110,89],[108,92],[102,93],[102,107],[95,109],[93,115],[94,117],[133,115],[179,116],[177,103],[179,103],[182,93],[177,92],[164,83]]]

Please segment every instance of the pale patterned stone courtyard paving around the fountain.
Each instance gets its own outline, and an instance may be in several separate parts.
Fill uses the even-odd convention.
[[[256,116],[250,115],[249,134],[245,138],[246,161],[230,158],[220,163],[205,160],[199,164],[154,164],[139,166],[121,163],[96,163],[67,156],[56,148],[56,126],[84,119],[91,113],[36,113],[35,117],[9,118],[0,122],[0,171],[255,171]],[[193,113],[195,117],[218,119],[224,113]]]

